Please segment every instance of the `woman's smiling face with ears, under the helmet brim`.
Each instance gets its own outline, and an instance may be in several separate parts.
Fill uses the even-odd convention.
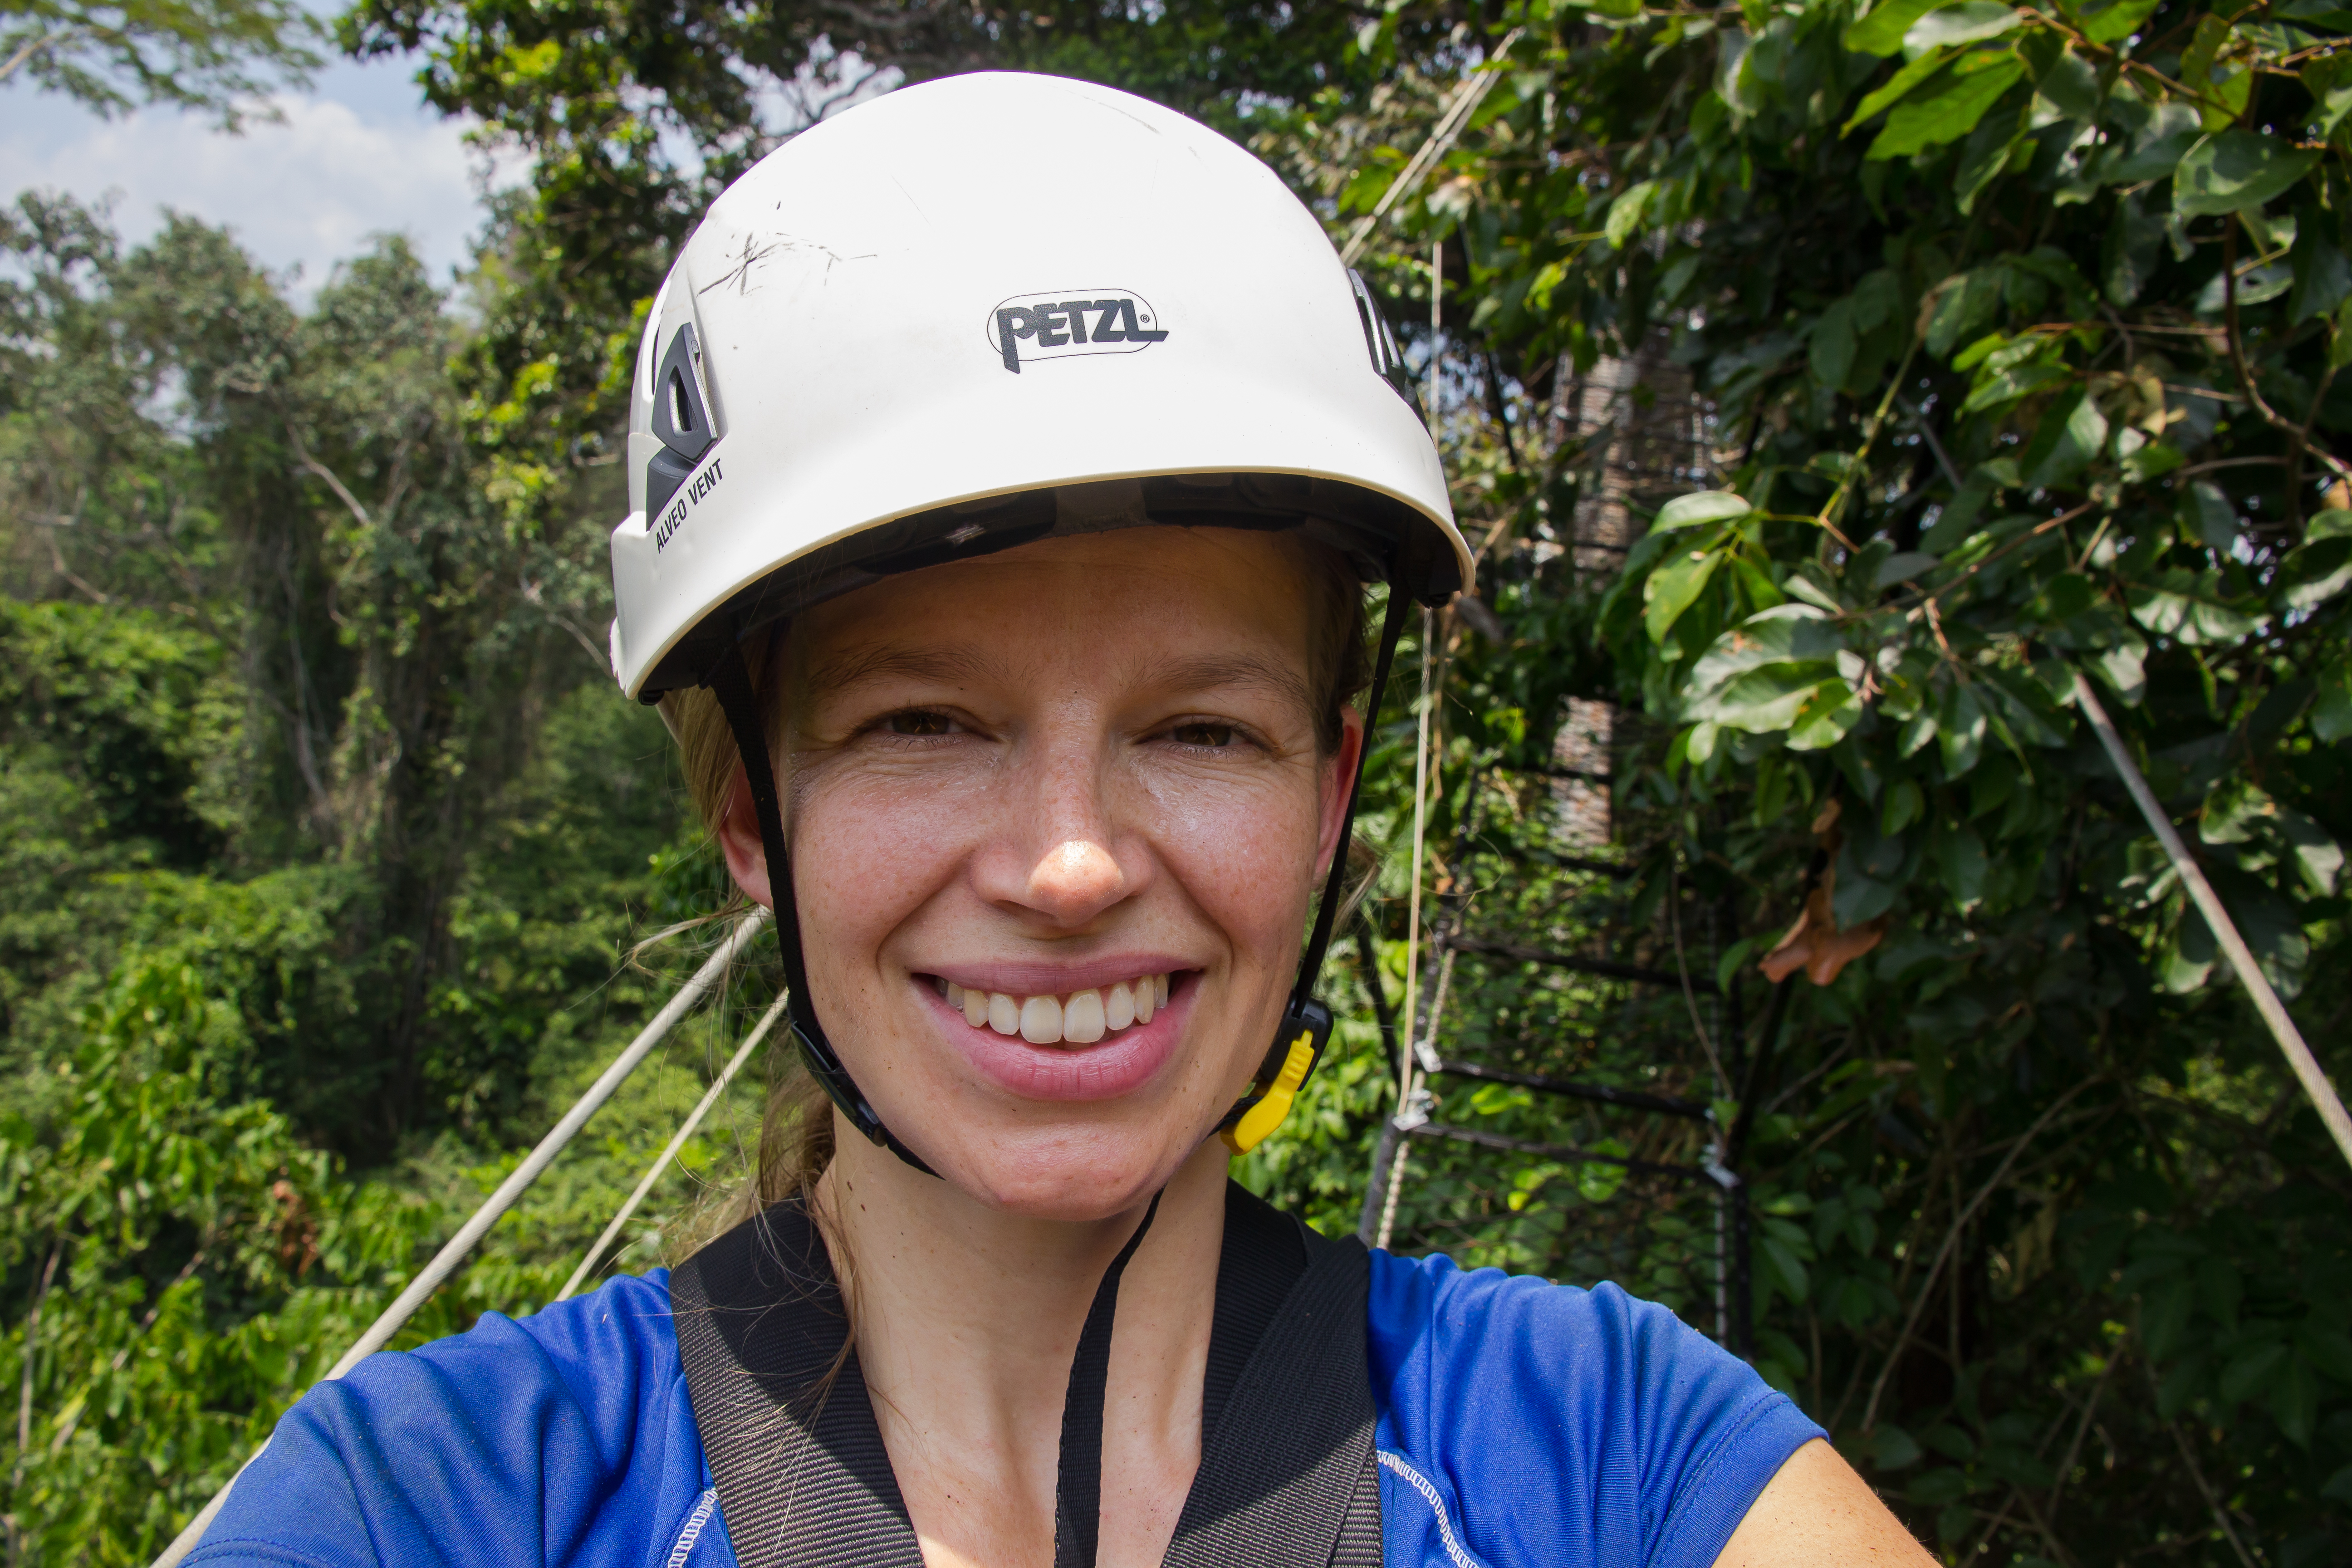
[[[809,987],[964,1192],[1120,1213],[1249,1086],[1338,849],[1294,543],[1124,529],[835,599],[790,644]],[[764,903],[748,795],[722,830]]]

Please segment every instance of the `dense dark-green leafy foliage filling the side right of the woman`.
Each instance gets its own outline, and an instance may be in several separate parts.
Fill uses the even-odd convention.
[[[1693,1093],[1691,1037],[1715,1032],[1717,1081],[1755,1095],[1731,1140],[1759,1363],[1955,1561],[2197,1556],[2225,1533],[2333,1561],[2352,1253],[2328,1218],[2352,1180],[2074,670],[2347,1081],[2326,1023],[2352,835],[2345,16],[1799,0],[1503,26],[1526,33],[1482,122],[1371,259],[1423,301],[1411,322],[1446,244],[1456,503],[1503,529],[1482,590],[1503,642],[1456,639],[1437,820],[1461,832],[1548,762],[1555,712],[1489,724],[1486,703],[1590,637],[1616,670],[1566,691],[1646,717],[1613,804],[1663,900],[1606,914],[1555,882],[1541,907],[1522,889],[1559,849],[1503,813],[1437,839],[1444,877],[1477,889],[1477,936],[1672,936],[1745,999],[1693,1004],[1672,1039],[1623,992],[1611,1027],[1639,1044],[1576,1048],[1599,1001],[1531,1041],[1484,1009],[1538,971],[1489,969],[1456,978],[1446,1051],[1646,1058]],[[1327,92],[1256,146],[1345,223],[1385,188],[1357,169],[1395,169],[1430,101]],[[1656,515],[1623,571],[1571,536],[1606,491],[1562,400],[1602,357],[1686,376],[1703,440],[1698,475],[1632,498]],[[1809,891],[1820,940],[1867,957],[1771,997],[1755,961]],[[1599,1133],[1489,1088],[1439,1081],[1437,1114]],[[1404,1234],[1454,1248],[1468,1211],[1489,1255],[1592,1276],[1557,1222],[1512,1225],[1494,1154],[1423,1140],[1414,1161],[1430,1197]],[[1576,1213],[1569,1237],[1611,1225]]]

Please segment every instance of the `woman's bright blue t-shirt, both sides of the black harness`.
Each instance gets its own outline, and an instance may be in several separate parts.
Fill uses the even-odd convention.
[[[1388,1568],[1708,1568],[1820,1427],[1665,1307],[1371,1255]],[[736,1568],[666,1272],[301,1399],[195,1568]]]

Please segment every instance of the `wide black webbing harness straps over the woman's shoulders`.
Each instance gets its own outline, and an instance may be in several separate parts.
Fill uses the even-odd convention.
[[[1369,1284],[1357,1241],[1324,1241],[1228,1185],[1202,1462],[1169,1568],[1378,1568]],[[736,1561],[922,1568],[807,1208],[776,1204],[689,1258],[670,1274],[670,1307]],[[1108,1352],[1108,1321],[1103,1340]],[[1096,1441],[1080,1443],[1096,1467],[1098,1422],[1096,1403]],[[1065,1488],[1068,1458],[1065,1408]],[[1056,1516],[1073,1512],[1063,1502],[1075,1500],[1056,1500]],[[1056,1519],[1056,1561],[1061,1537]]]

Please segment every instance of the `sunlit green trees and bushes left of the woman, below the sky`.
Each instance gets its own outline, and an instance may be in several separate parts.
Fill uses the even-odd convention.
[[[397,242],[296,310],[193,223],[0,237],[0,1528],[143,1563],[691,971],[626,950],[720,875],[583,658],[595,512],[482,527]],[[548,1300],[741,1027],[687,1025],[402,1342]]]

